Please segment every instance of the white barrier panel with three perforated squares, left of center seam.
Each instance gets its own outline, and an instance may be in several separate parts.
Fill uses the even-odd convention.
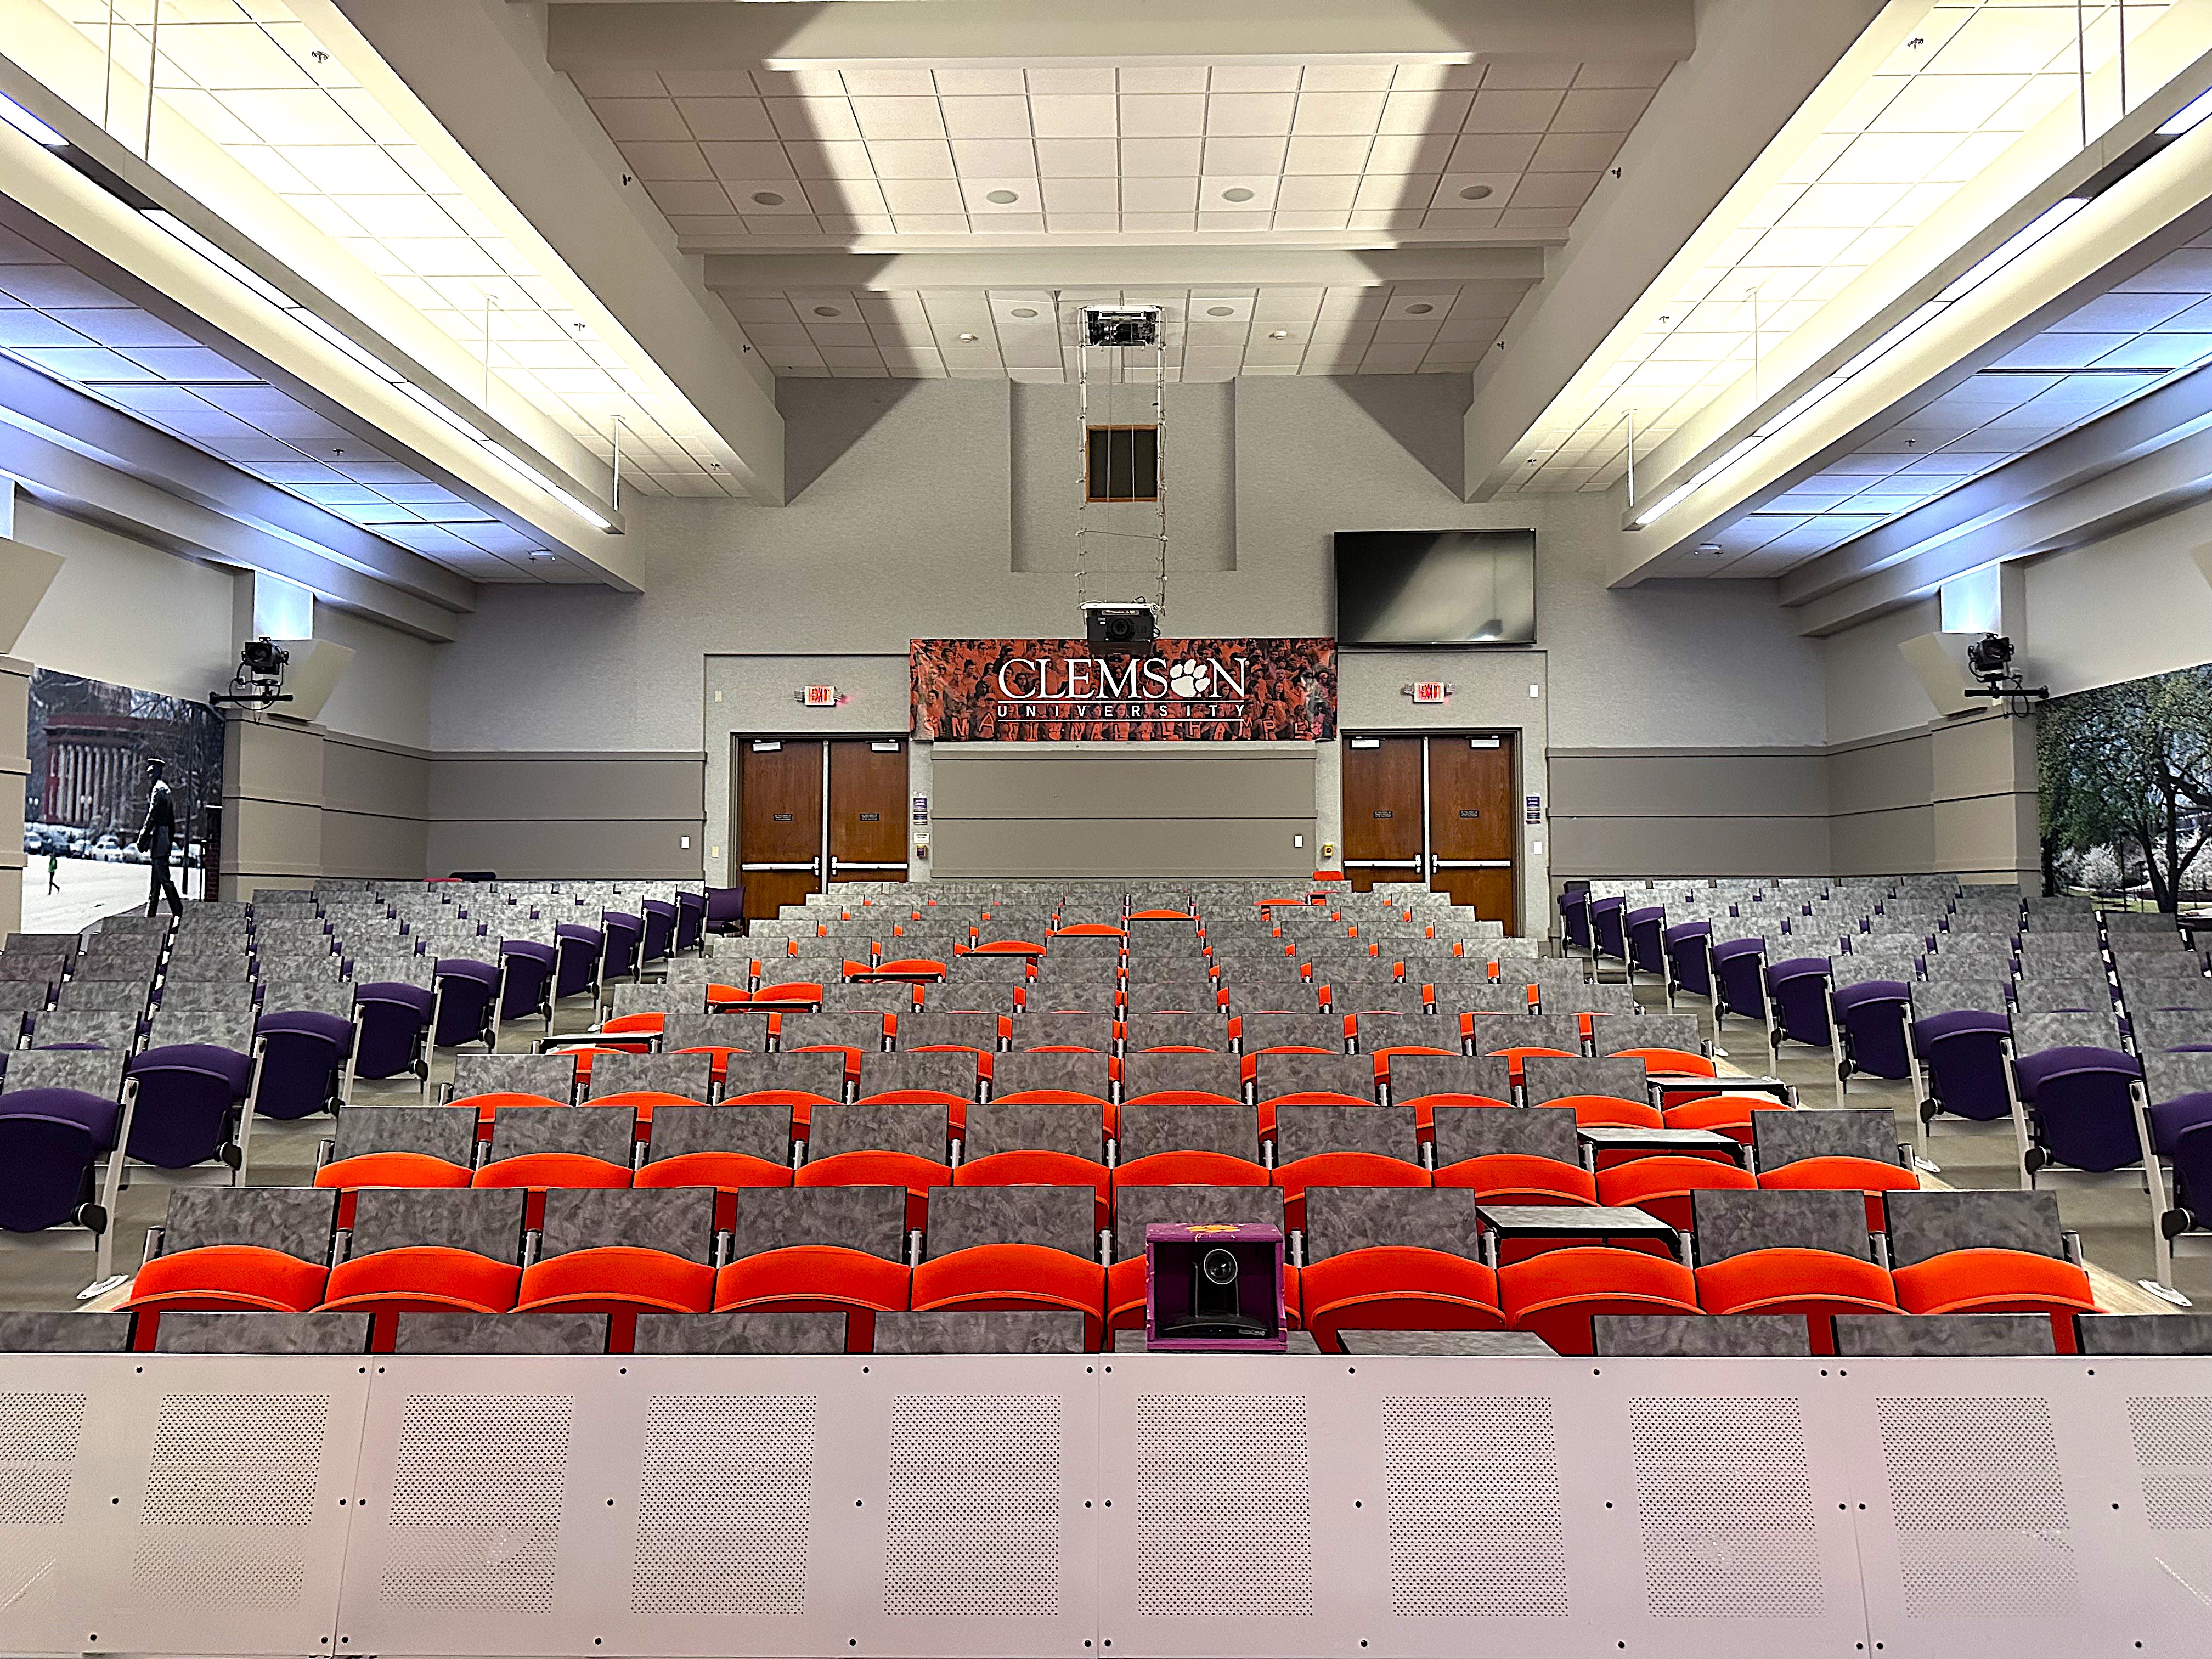
[[[1095,1641],[1084,1360],[383,1365],[338,1652],[1079,1659]]]

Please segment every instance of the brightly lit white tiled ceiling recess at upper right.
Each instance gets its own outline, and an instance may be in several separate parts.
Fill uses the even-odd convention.
[[[1717,458],[1754,473],[1741,440],[1902,321],[1900,296],[1929,299],[1931,272],[2031,219],[2033,192],[2208,44],[2203,0],[1891,4],[1524,434],[1511,478],[1621,487],[1630,429],[1639,502],[1703,489]],[[1668,509],[1624,551],[1648,560],[1694,518]]]

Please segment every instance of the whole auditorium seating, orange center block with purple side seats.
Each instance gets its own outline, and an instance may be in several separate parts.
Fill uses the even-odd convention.
[[[241,1352],[832,1329],[876,1352],[922,1314],[973,1314],[918,1329],[982,1349],[1141,1345],[1146,1225],[1250,1221],[1285,1234],[1298,1347],[1836,1354],[2075,1352],[2099,1305],[2062,1175],[2143,1190],[2150,1168],[2159,1243],[2197,1234],[2205,1091],[2183,1051],[2146,1066],[2130,1024],[2185,1006],[2185,975],[2146,973],[2154,931],[2088,909],[1608,883],[1562,894],[1553,956],[1338,878],[854,883],[743,933],[706,929],[712,900],[330,883],[175,931],[18,938],[11,1237],[77,1230],[104,1270],[122,1183],[166,1188],[117,1298],[139,1349],[186,1316]],[[2159,949],[2201,978],[2179,936]],[[2000,953],[2020,971],[1984,980],[1995,1075],[1971,1095],[1940,1068],[1960,980],[1924,973]],[[2095,978],[2097,1031],[2013,1000],[2059,964]],[[51,1042],[106,987],[113,1031]],[[1725,1053],[1745,1035],[1750,1071]],[[1790,1044],[1836,1057],[1834,1097],[1778,1075]],[[1851,1093],[1889,1055],[1929,1091],[1920,1157]],[[1927,1150],[1989,1091],[2022,1179],[1949,1190]],[[263,1152],[276,1133],[290,1157],[316,1137],[310,1170]],[[2079,1150],[2139,1135],[2150,1164]]]

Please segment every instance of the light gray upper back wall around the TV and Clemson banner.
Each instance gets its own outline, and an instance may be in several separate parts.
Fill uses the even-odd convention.
[[[794,478],[807,480],[790,507],[639,498],[628,513],[646,593],[484,588],[438,653],[427,748],[703,754],[695,816],[712,825],[701,865],[719,876],[732,737],[902,732],[909,639],[1073,633],[1075,577],[1053,551],[1066,546],[1053,502],[1071,507],[1075,489],[1066,389],[787,380],[779,398],[803,456]],[[1347,728],[1517,732],[1528,792],[1546,799],[1553,743],[1730,752],[1823,741],[1820,646],[1787,626],[1770,584],[1613,593],[1621,531],[1604,498],[1460,502],[1444,476],[1464,398],[1451,376],[1179,387],[1168,630],[1329,633],[1336,529],[1533,524],[1544,648],[1347,653]],[[1400,690],[1413,679],[1460,690],[1442,710],[1413,710]],[[834,684],[849,701],[805,710],[794,701],[805,684]],[[1314,779],[1314,834],[1334,843],[1334,752],[1316,757]],[[929,792],[925,745],[914,781]],[[577,805],[619,818],[604,794]],[[1524,836],[1524,872],[1542,891],[1551,838],[1544,825]],[[599,845],[635,856],[613,830]],[[434,830],[434,865],[445,847],[458,843]]]

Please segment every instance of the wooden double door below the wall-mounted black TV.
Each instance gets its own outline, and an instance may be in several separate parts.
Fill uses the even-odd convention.
[[[1345,737],[1343,869],[1354,891],[1413,880],[1517,929],[1520,770],[1511,734]]]

